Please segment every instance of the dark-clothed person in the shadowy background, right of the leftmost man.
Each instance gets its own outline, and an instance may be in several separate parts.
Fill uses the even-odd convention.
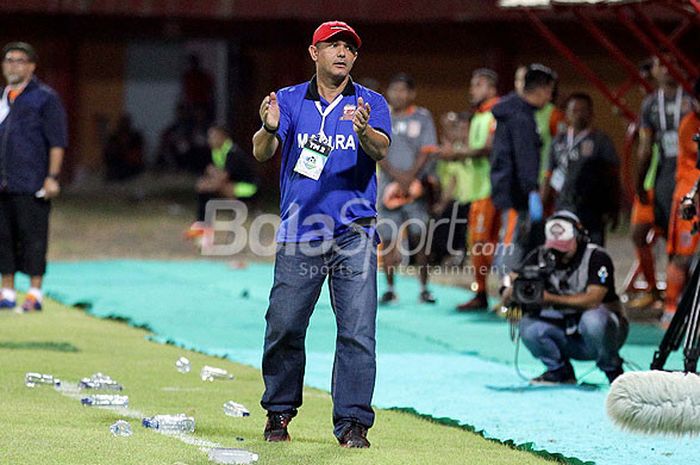
[[[126,181],[141,174],[143,154],[143,136],[132,126],[131,116],[122,115],[104,150],[107,181]]]

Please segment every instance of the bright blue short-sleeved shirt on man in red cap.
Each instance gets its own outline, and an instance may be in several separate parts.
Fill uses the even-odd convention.
[[[377,216],[376,163],[360,147],[352,119],[357,99],[371,107],[369,125],[391,138],[389,106],[380,94],[350,80],[336,98],[342,99],[326,116],[324,134],[333,147],[318,181],[294,171],[302,148],[321,128],[322,110],[329,106],[319,96],[316,78],[277,92],[282,146],[278,242],[332,239],[350,223]]]

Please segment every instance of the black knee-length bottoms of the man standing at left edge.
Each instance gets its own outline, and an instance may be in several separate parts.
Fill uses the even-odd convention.
[[[32,194],[0,193],[0,274],[46,273],[50,211]]]

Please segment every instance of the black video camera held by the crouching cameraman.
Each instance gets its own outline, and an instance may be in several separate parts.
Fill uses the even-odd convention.
[[[551,250],[545,250],[537,264],[522,266],[513,281],[512,305],[527,313],[541,310],[547,279],[555,265],[556,256]]]

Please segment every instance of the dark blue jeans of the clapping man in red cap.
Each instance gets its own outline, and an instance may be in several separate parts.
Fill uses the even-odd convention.
[[[278,245],[265,316],[261,405],[269,412],[292,414],[301,406],[304,340],[326,277],[338,328],[331,395],[339,435],[350,421],[368,428],[374,423],[377,251],[364,230],[348,231],[332,241]]]

